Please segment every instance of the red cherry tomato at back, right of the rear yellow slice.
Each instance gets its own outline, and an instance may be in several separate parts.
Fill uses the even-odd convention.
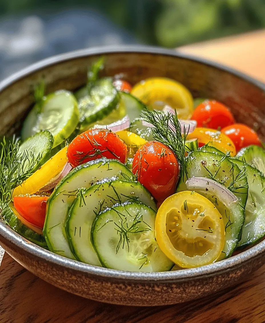
[[[211,129],[222,129],[236,122],[229,109],[214,100],[206,100],[199,104],[191,119],[197,121],[197,127]]]

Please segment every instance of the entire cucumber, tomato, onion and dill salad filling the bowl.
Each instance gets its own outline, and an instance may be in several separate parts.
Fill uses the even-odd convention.
[[[265,236],[257,133],[173,79],[100,77],[35,89],[20,137],[0,147],[1,220],[30,243],[95,266],[204,266]],[[123,76],[123,78],[125,78]]]

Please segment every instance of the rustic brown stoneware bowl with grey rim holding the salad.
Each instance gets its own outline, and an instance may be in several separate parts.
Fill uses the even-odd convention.
[[[75,90],[87,68],[104,54],[105,75],[122,73],[132,84],[162,76],[183,83],[194,97],[228,105],[236,120],[265,138],[265,85],[234,70],[175,51],[153,47],[95,48],[51,57],[0,83],[0,135],[19,131],[34,98],[33,86],[45,79],[47,91]],[[0,244],[17,262],[70,293],[123,305],[167,305],[209,295],[237,284],[265,263],[265,241],[229,259],[171,272],[125,272],[90,266],[28,242],[0,221]]]

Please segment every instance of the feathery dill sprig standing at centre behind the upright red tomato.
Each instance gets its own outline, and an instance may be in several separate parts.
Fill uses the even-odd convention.
[[[187,175],[186,159],[185,159],[185,141],[187,137],[186,128],[184,127],[184,134],[181,134],[181,126],[178,121],[177,113],[160,113],[155,110],[144,109],[141,117],[143,120],[154,125],[152,128],[153,137],[156,141],[159,141],[168,146],[176,155],[181,174]]]

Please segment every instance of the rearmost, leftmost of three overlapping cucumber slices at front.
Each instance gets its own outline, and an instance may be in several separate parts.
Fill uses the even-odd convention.
[[[43,234],[49,249],[58,255],[75,259],[68,244],[65,223],[69,208],[79,188],[89,188],[106,177],[134,180],[133,173],[117,160],[101,158],[74,168],[56,186],[48,199]]]

